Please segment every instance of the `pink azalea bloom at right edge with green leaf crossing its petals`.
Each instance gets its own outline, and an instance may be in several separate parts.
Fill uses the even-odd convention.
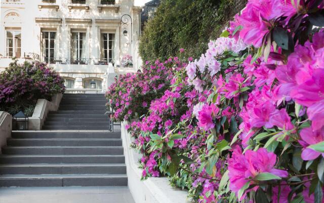
[[[301,154],[303,160],[313,160],[320,154],[324,157],[324,153],[307,148],[309,145],[324,141],[324,127],[315,131],[311,127],[304,128],[300,131],[300,137],[302,140],[300,140],[299,143],[304,147]]]

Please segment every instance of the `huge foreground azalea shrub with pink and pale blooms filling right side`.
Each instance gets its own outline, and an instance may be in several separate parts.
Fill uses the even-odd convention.
[[[250,0],[174,71],[127,126],[143,178],[169,176],[204,203],[324,202],[323,7]]]

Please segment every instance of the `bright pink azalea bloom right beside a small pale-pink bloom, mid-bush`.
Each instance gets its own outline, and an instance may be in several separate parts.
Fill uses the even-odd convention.
[[[199,111],[198,116],[198,126],[203,128],[204,130],[209,130],[215,127],[215,123],[213,122],[213,117],[215,117],[218,113],[219,109],[214,105],[208,104],[204,105]]]

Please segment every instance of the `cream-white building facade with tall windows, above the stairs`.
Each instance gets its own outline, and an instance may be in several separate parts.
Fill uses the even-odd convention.
[[[136,0],[1,0],[0,71],[12,57],[38,60],[53,66],[71,92],[105,92],[109,67],[125,73],[141,65],[142,5]],[[121,67],[126,55],[133,57],[133,67]]]

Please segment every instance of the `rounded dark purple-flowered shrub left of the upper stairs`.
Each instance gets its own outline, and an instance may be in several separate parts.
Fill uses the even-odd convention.
[[[34,105],[38,98],[51,100],[64,92],[64,79],[45,63],[10,63],[0,73],[0,107],[12,114]]]

